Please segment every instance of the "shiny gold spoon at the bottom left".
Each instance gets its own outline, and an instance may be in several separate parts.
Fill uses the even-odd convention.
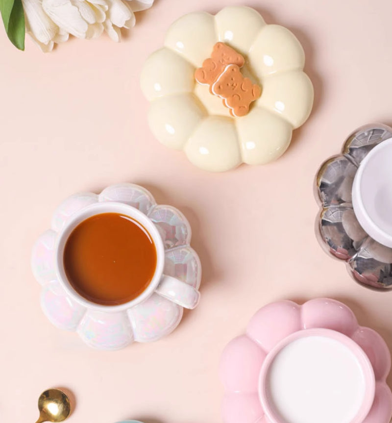
[[[62,422],[71,412],[70,398],[60,389],[48,389],[38,399],[40,417],[35,423]]]

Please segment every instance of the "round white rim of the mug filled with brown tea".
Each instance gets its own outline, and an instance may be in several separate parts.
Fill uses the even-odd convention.
[[[78,294],[71,284],[69,283],[67,276],[64,271],[63,265],[63,254],[64,247],[67,242],[68,237],[70,236],[73,229],[88,219],[89,217],[102,214],[102,213],[120,213],[127,217],[130,217],[136,220],[138,223],[142,224],[151,235],[151,238],[155,245],[156,250],[156,267],[154,275],[152,276],[151,282],[148,285],[147,289],[142,292],[137,298],[132,299],[131,301],[125,302],[119,305],[102,305],[96,304],[95,302],[85,299],[80,294]],[[117,202],[117,201],[105,201],[90,204],[83,209],[76,212],[62,227],[59,231],[56,246],[55,246],[55,271],[57,280],[60,285],[64,288],[66,293],[74,299],[79,304],[83,305],[86,308],[94,309],[101,312],[119,312],[127,310],[128,308],[134,307],[135,305],[140,304],[145,299],[151,296],[155,289],[157,288],[159,282],[161,281],[163,275],[163,269],[165,266],[165,247],[162,241],[162,238],[159,234],[159,231],[155,224],[140,210],[132,207],[128,204]]]

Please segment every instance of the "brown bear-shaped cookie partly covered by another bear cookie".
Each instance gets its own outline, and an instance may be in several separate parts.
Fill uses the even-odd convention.
[[[244,66],[244,57],[236,50],[224,43],[217,43],[214,46],[211,57],[204,60],[203,66],[196,69],[195,78],[200,84],[210,86],[216,81],[227,65],[235,64],[240,68]]]

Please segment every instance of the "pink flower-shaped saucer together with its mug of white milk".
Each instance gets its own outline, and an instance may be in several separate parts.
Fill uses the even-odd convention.
[[[260,309],[221,358],[224,423],[389,423],[390,351],[333,299]]]

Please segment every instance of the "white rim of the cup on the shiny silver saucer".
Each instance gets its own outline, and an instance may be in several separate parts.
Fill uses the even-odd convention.
[[[392,147],[392,138],[388,138],[387,140],[381,142],[373,149],[371,149],[365,158],[360,163],[358,170],[354,176],[354,181],[352,185],[352,205],[354,209],[355,216],[362,226],[362,228],[367,232],[367,234],[373,238],[375,241],[379,242],[380,244],[392,248],[392,235],[388,232],[384,231],[380,226],[374,223],[371,217],[368,214],[366,209],[366,205],[363,202],[362,194],[361,194],[361,183],[362,183],[362,176],[364,174],[366,165],[368,162],[373,158],[375,154],[377,154],[380,150],[385,148]]]

